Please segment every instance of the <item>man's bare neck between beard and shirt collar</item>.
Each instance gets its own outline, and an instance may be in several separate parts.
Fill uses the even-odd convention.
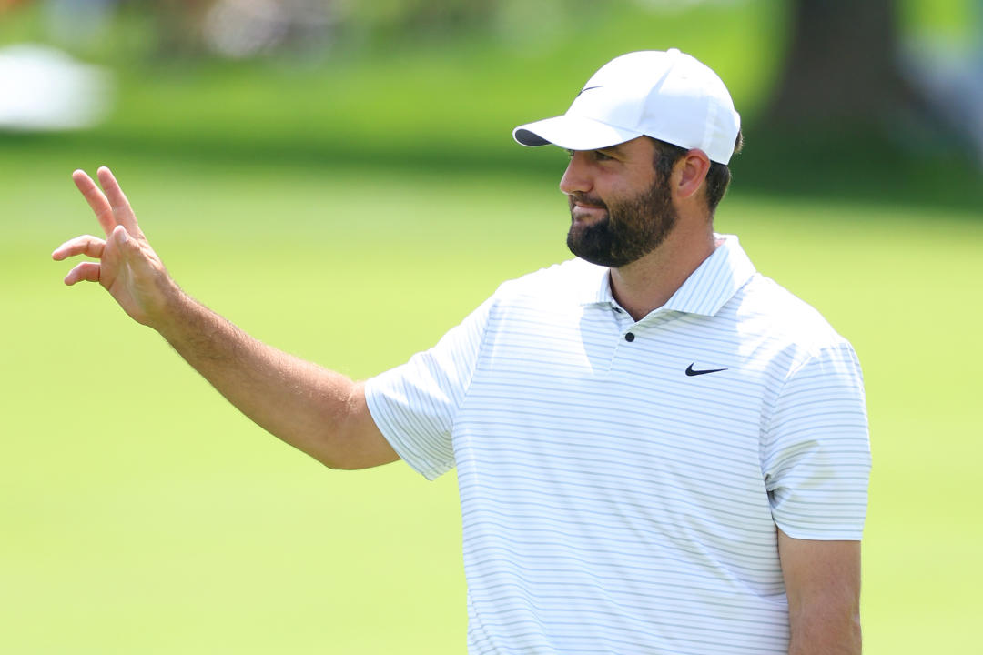
[[[717,248],[708,220],[680,220],[641,259],[610,269],[611,293],[636,321],[663,306]]]

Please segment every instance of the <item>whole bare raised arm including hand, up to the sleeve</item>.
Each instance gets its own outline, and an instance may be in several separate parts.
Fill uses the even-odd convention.
[[[134,320],[157,330],[208,382],[283,441],[335,468],[399,459],[376,427],[362,385],[261,344],[185,295],[147,242],[123,190],[107,168],[100,191],[85,172],[72,175],[106,234],[58,246],[61,261],[84,254],[65,284],[98,282]]]

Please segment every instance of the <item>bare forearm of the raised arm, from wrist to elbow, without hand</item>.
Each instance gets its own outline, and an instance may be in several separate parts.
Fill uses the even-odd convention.
[[[262,344],[181,292],[153,327],[262,428],[328,466],[360,467],[360,385]]]

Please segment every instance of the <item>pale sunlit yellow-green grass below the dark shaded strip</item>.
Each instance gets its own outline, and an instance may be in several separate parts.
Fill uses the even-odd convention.
[[[545,156],[558,175],[562,154]],[[0,157],[0,651],[461,652],[453,476],[326,471],[240,417],[100,289],[63,288],[67,266],[48,253],[96,225],[70,168],[51,162]],[[193,295],[355,377],[567,256],[558,191],[523,176],[136,154],[115,169]],[[964,652],[983,584],[969,564],[983,545],[969,482],[983,352],[967,301],[983,226],[738,189],[719,228],[861,357],[875,462],[867,652]]]

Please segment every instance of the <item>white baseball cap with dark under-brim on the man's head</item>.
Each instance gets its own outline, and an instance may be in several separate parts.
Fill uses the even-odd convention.
[[[723,81],[671,48],[615,57],[584,84],[565,114],[520,125],[512,137],[523,145],[595,150],[648,135],[699,148],[726,164],[739,130],[740,115]]]

